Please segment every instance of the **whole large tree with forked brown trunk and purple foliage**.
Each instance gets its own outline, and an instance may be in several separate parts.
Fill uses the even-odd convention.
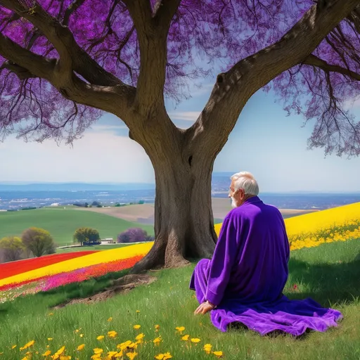
[[[343,106],[359,94],[359,4],[0,0],[1,134],[72,142],[117,115],[155,169],[156,240],[135,270],[207,257],[214,160],[257,90],[273,86],[286,110],[316,120],[309,148],[359,155],[360,126]],[[214,62],[224,72],[205,108],[177,128],[165,97],[181,100]]]

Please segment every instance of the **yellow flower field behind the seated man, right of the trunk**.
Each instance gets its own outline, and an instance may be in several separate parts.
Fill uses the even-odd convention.
[[[290,250],[360,238],[360,203],[285,219]],[[221,224],[215,225],[219,236]]]

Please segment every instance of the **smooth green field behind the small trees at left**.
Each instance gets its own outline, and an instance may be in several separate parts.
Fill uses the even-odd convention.
[[[70,245],[75,230],[91,227],[99,231],[101,238],[117,238],[122,231],[140,227],[153,235],[153,226],[136,224],[97,212],[69,209],[37,209],[18,212],[0,212],[0,238],[20,236],[31,226],[45,229],[51,233],[56,244]]]

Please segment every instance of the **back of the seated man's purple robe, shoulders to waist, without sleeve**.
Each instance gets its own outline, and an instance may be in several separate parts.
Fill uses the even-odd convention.
[[[240,302],[272,302],[288,278],[289,244],[281,213],[257,196],[231,210],[236,259],[224,297]],[[231,247],[233,248],[233,247]]]

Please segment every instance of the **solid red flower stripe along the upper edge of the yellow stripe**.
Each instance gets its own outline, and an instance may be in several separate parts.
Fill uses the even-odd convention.
[[[10,276],[25,273],[26,271],[56,264],[57,262],[65,262],[65,260],[75,259],[76,257],[81,257],[84,255],[90,255],[94,252],[97,251],[75,251],[65,254],[53,254],[34,257],[33,259],[19,260],[18,262],[6,262],[5,264],[0,264],[0,280]]]

